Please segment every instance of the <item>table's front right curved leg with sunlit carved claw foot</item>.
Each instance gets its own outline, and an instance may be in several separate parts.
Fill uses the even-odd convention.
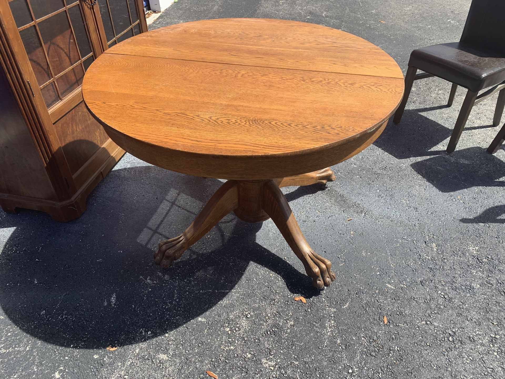
[[[307,275],[312,278],[312,285],[320,290],[324,286],[329,286],[335,280],[335,274],[331,271],[331,262],[311,249],[275,180],[269,180],[264,184],[262,205],[294,254],[304,264]]]

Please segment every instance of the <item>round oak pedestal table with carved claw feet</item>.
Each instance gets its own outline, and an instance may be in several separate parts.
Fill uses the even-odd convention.
[[[114,142],[156,166],[228,179],[193,223],[162,241],[169,267],[230,212],[272,218],[318,289],[335,279],[279,189],[335,179],[326,168],[380,135],[403,94],[396,62],[329,27],[270,19],[187,22],[100,55],[82,84]]]

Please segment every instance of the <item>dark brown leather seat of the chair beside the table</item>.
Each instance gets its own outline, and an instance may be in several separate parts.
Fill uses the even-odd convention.
[[[411,53],[409,66],[474,92],[505,80],[505,56],[477,50],[462,42],[441,43],[416,49]]]

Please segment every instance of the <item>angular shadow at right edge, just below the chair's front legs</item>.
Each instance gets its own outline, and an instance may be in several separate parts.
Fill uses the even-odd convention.
[[[456,150],[411,167],[440,192],[455,192],[474,186],[505,187],[505,162],[480,147]]]

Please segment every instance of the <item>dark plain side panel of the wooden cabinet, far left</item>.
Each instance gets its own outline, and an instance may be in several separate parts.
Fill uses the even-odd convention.
[[[0,66],[0,192],[55,200],[12,88]]]

